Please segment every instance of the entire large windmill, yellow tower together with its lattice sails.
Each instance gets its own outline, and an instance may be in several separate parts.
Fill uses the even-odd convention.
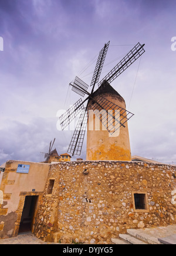
[[[144,44],[141,45],[138,42],[98,83],[109,43],[104,45],[97,59],[90,84],[91,92],[87,91],[89,86],[76,77],[73,84],[70,83],[72,90],[82,97],[87,94],[87,97],[85,100],[79,99],[60,116],[60,126],[64,129],[81,111],[67,152],[80,155],[87,127],[86,160],[131,160],[127,121],[133,113],[126,110],[123,97],[109,83],[120,76],[145,52]],[[98,88],[94,91],[96,84]],[[86,101],[87,104],[84,107],[83,104]]]

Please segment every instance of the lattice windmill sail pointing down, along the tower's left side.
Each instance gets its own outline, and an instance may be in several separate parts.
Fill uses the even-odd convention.
[[[73,133],[72,140],[69,145],[68,153],[72,153],[72,155],[80,155],[83,146],[84,134],[86,132],[87,126],[87,111],[86,109],[82,110],[80,114],[79,121],[77,123],[75,132]]]

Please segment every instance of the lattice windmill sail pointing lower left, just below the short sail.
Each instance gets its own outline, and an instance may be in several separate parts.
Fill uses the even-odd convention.
[[[82,109],[84,109],[84,106],[82,103],[83,103],[82,99],[79,99],[78,101],[76,101],[75,104],[73,104],[72,107],[70,107],[70,109],[68,109],[64,114],[62,114],[62,116],[59,117],[60,126],[62,130],[67,125],[69,125],[70,122],[72,122],[72,120],[77,116],[77,114],[80,113]]]

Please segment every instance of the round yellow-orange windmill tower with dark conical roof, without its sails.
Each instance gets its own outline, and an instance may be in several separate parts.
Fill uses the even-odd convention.
[[[104,109],[99,111],[100,117],[94,114],[94,111],[89,112],[86,160],[131,160],[127,122],[120,127],[120,123],[110,116],[112,114],[114,119],[120,120],[121,123],[123,118],[126,120],[126,103],[123,97],[106,80],[94,92],[93,98],[96,99],[98,95],[109,100],[111,105],[116,104],[118,107],[113,106],[114,110],[111,111],[109,106],[104,106]],[[93,100],[90,100],[89,104],[93,105]],[[100,122],[103,115],[106,117],[104,123],[107,122],[107,126]],[[115,132],[113,132],[115,129],[113,126],[116,126]],[[109,130],[107,130],[108,127]]]

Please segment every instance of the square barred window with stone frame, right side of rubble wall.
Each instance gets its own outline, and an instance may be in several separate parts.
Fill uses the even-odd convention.
[[[135,212],[148,212],[147,193],[133,192],[133,208]]]

